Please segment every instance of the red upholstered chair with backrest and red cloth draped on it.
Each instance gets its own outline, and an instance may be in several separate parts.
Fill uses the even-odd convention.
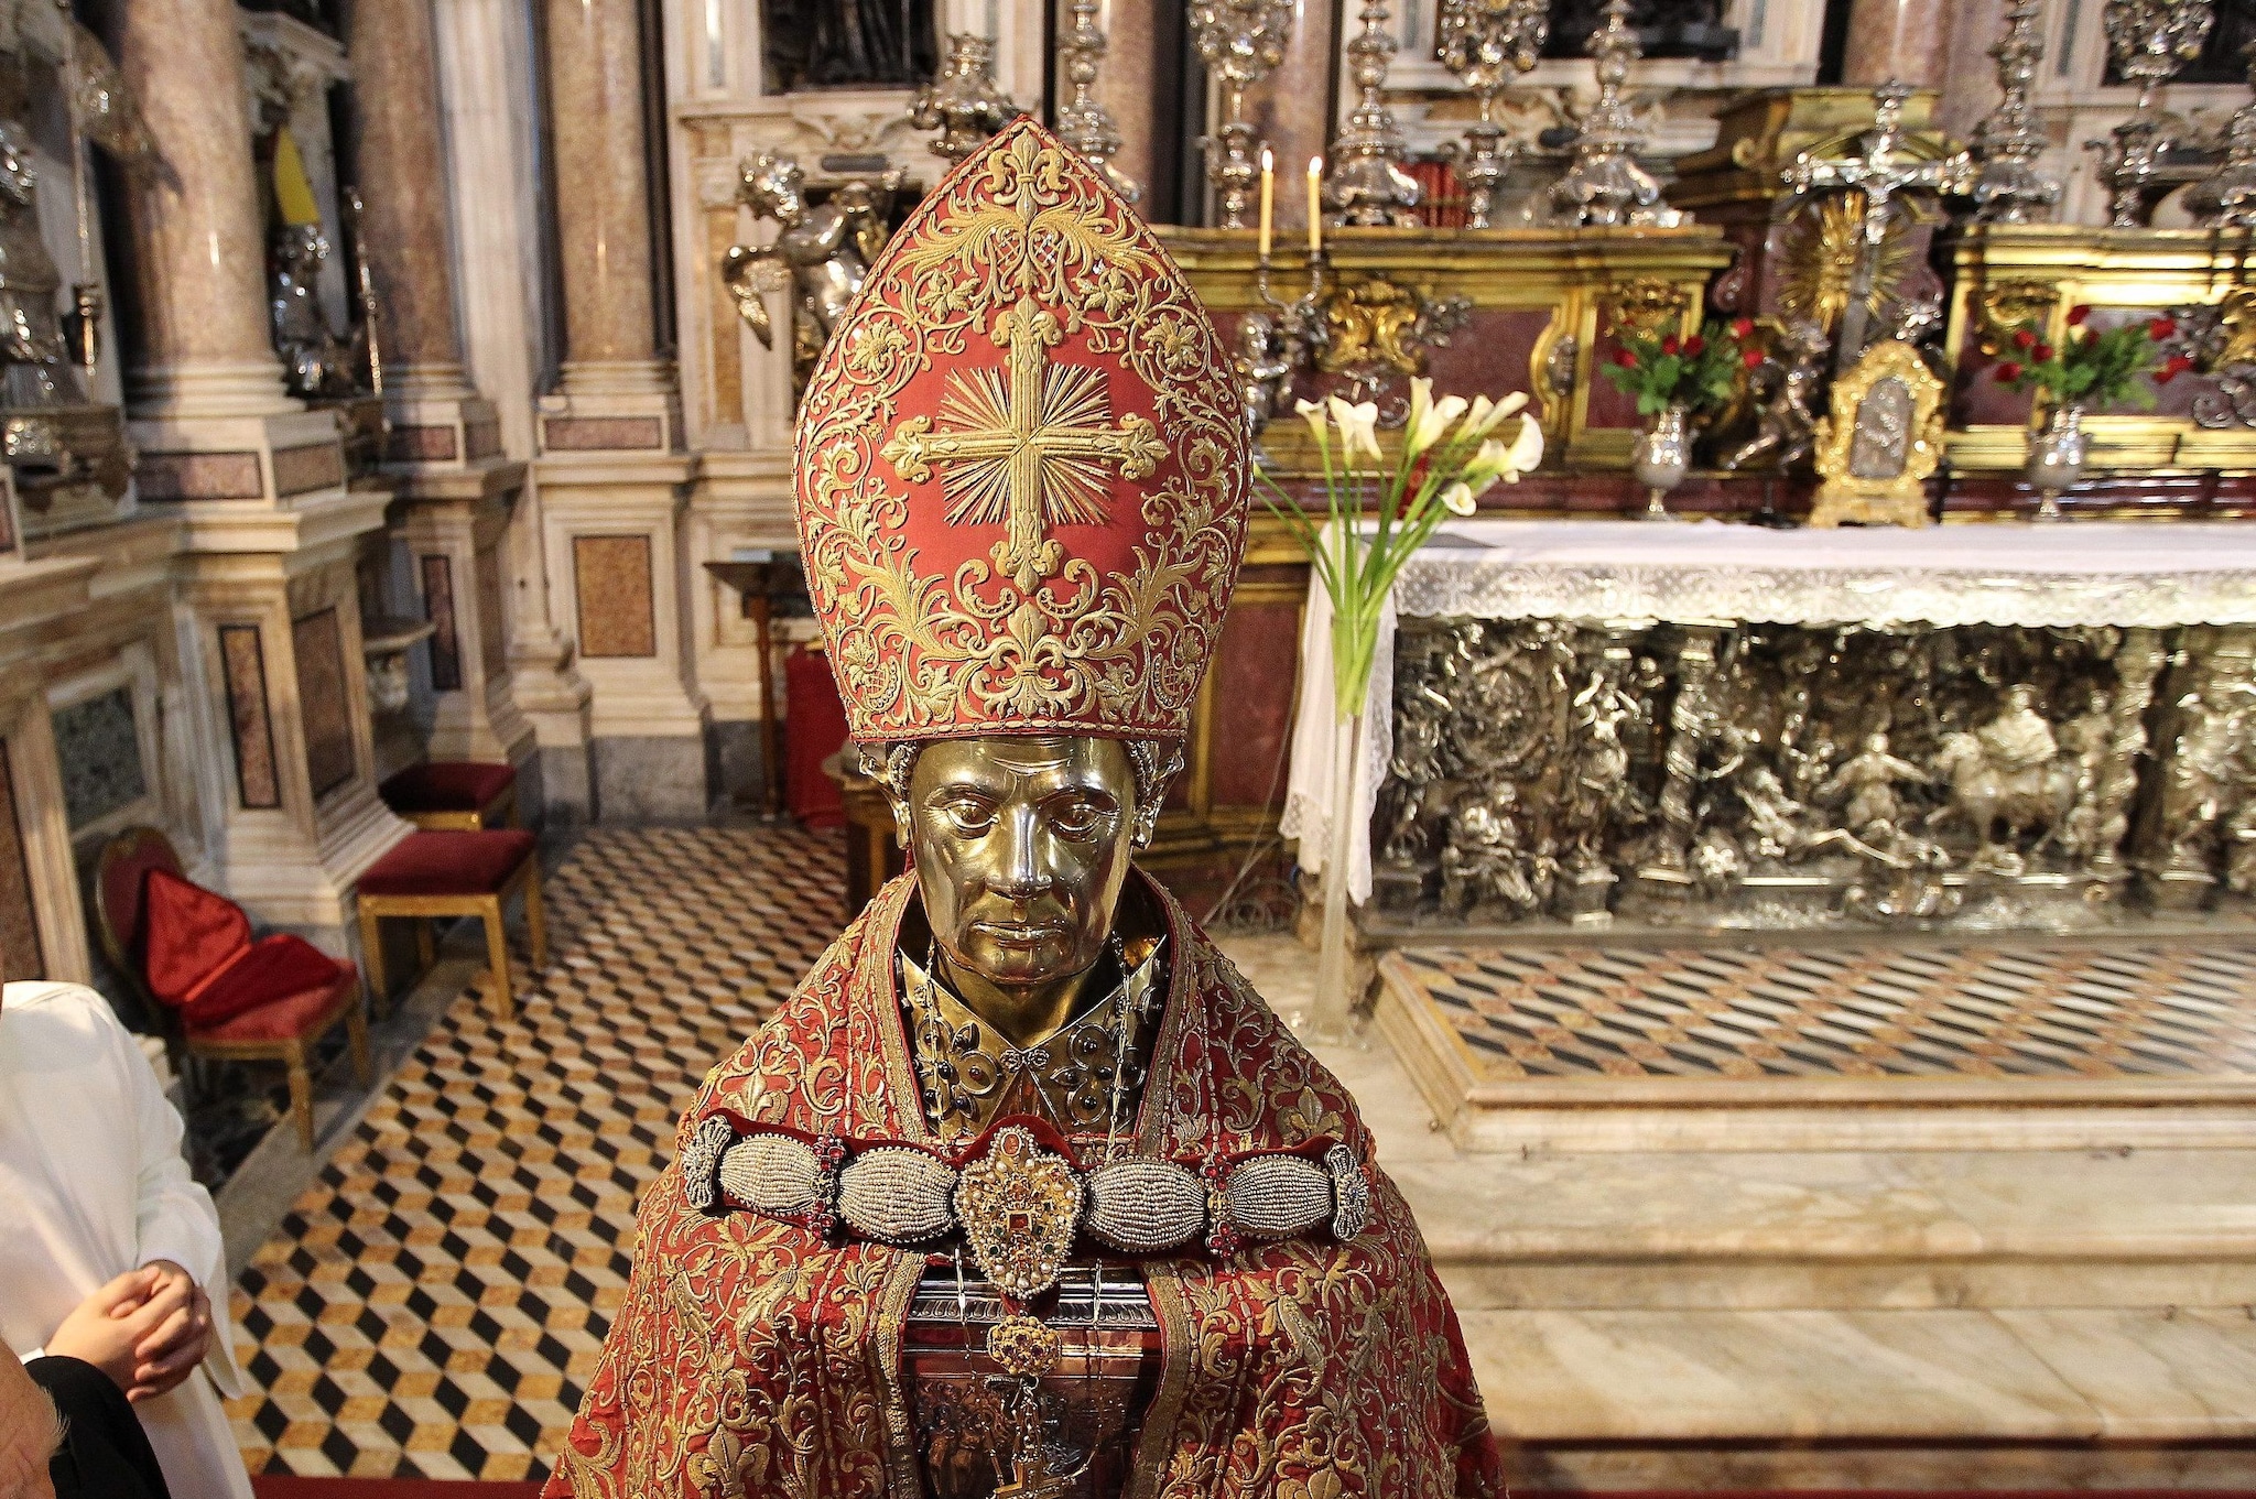
[[[250,917],[223,895],[190,884],[156,827],[129,827],[95,866],[102,951],[190,1057],[282,1062],[298,1138],[314,1150],[314,1077],[307,1057],[345,1026],[352,1073],[365,1089],[368,1017],[361,972],[305,938],[250,940]]]

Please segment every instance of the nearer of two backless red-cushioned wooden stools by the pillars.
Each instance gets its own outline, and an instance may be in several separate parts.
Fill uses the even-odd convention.
[[[384,985],[384,942],[379,922],[393,917],[474,915],[485,922],[485,953],[492,965],[494,999],[503,1019],[517,1014],[510,992],[510,940],[503,931],[503,908],[523,895],[526,935],[532,942],[532,967],[548,967],[548,926],[541,920],[541,861],[530,832],[499,827],[494,832],[411,832],[393,852],[368,866],[359,884],[361,951],[368,956],[368,981],[379,1005],[390,1005]],[[424,963],[429,956],[429,926]]]

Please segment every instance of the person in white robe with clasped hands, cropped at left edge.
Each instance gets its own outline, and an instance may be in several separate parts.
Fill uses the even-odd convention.
[[[0,1339],[117,1380],[174,1499],[250,1499],[219,1404],[241,1393],[226,1247],[180,1136],[106,999],[0,987]],[[97,1319],[131,1319],[131,1350]]]

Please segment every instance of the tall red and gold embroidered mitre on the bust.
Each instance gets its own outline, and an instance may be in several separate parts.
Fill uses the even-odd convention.
[[[1198,295],[1017,117],[871,266],[799,408],[808,591],[853,737],[1182,737],[1245,550]]]

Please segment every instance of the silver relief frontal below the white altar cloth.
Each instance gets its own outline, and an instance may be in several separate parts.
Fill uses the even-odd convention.
[[[2256,629],[1405,618],[1385,920],[2073,926],[2256,890]]]

